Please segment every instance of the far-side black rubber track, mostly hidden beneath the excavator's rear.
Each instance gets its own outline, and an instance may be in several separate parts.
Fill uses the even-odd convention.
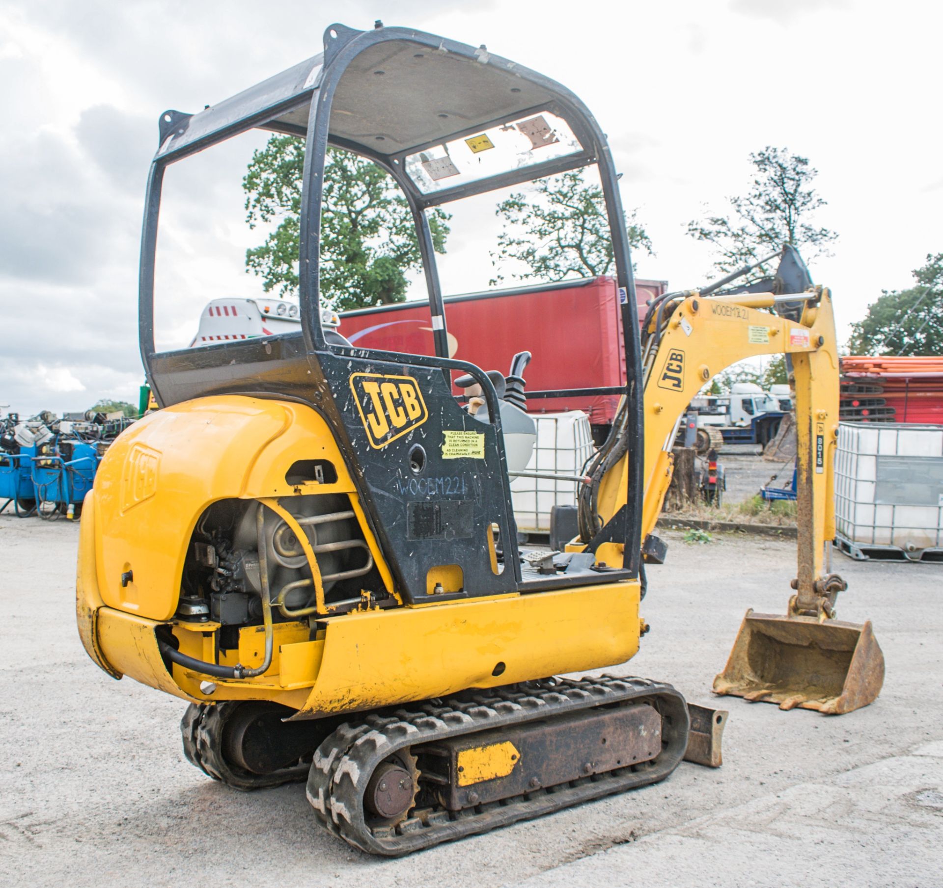
[[[306,765],[283,767],[272,774],[254,774],[226,762],[223,731],[238,706],[240,702],[190,703],[180,719],[183,754],[190,765],[241,792],[304,780],[308,770]]]

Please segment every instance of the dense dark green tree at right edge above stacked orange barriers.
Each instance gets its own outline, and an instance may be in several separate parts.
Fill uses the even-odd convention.
[[[852,324],[852,355],[943,355],[943,253],[927,254],[917,285],[883,291]]]

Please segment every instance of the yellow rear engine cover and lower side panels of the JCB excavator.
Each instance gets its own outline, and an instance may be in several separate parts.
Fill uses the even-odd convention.
[[[287,483],[288,468],[312,453],[339,466],[337,481]],[[225,499],[256,500],[290,514],[281,504],[311,488],[350,498],[395,595],[318,413],[290,402],[220,396],[151,413],[129,428],[109,448],[82,512],[77,621],[91,658],[116,678],[127,674],[190,701],[269,700],[313,718],[598,669],[637,653],[639,586],[626,581],[443,604],[430,595],[389,609],[365,600],[353,613],[325,613],[318,638],[309,638],[306,621],[276,623],[272,663],[256,677],[216,678],[201,689],[206,676],[199,670],[174,664],[168,674],[155,635],[161,625],[173,627],[177,649],[195,659],[247,668],[263,660],[262,626],[243,627],[238,647],[218,651],[218,622],[174,619],[198,519]],[[320,573],[310,547],[307,556],[312,573]],[[437,640],[443,635],[444,649]],[[503,668],[494,674],[498,664]]]

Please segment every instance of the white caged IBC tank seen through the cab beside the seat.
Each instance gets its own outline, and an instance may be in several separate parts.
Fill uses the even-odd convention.
[[[593,452],[589,417],[578,410],[532,413],[537,422],[537,445],[527,463],[528,472],[578,475]],[[551,478],[511,478],[514,519],[521,533],[547,533],[553,506],[576,504],[575,481]]]

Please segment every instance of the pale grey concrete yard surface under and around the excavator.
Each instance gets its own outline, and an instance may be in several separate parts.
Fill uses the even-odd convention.
[[[887,672],[877,702],[825,717],[710,693],[747,607],[785,610],[794,546],[667,539],[652,631],[605,671],[729,709],[723,767],[389,861],[321,831],[302,784],[240,793],[191,767],[185,704],[82,650],[78,527],[0,515],[0,884],[943,885],[943,566],[835,555],[838,616],[873,622]]]

